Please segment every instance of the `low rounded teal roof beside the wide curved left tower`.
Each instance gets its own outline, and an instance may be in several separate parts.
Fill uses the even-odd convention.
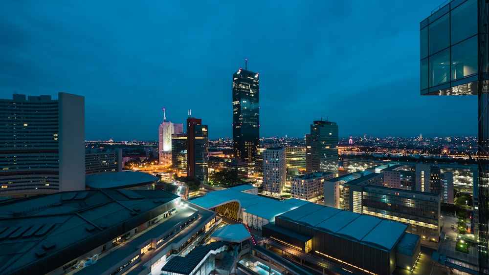
[[[85,185],[91,189],[121,189],[157,182],[158,177],[138,171],[110,172],[85,176]]]

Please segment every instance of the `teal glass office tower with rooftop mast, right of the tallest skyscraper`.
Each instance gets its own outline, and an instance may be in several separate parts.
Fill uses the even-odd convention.
[[[338,125],[316,120],[306,135],[306,171],[338,174]]]

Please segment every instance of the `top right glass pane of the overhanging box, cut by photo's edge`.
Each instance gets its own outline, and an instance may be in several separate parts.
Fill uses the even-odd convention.
[[[477,33],[477,1],[467,0],[451,11],[451,44]]]

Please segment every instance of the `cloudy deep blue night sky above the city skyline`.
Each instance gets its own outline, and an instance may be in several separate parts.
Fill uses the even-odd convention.
[[[0,98],[85,96],[87,140],[156,140],[188,109],[232,138],[232,75],[260,73],[260,136],[477,135],[476,96],[421,96],[419,23],[443,0],[0,2]]]

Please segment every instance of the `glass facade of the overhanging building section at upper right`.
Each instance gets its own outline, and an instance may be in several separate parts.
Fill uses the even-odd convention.
[[[477,0],[451,1],[421,22],[421,94],[477,94]]]

